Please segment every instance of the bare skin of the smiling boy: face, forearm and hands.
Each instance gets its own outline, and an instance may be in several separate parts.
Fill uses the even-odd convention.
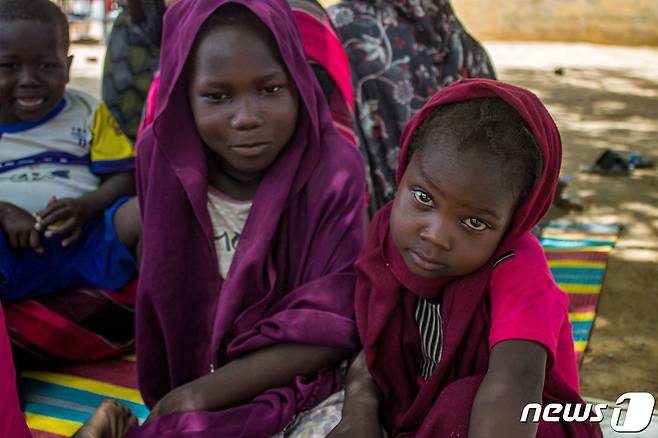
[[[35,122],[46,116],[64,96],[72,60],[55,25],[28,20],[1,23],[0,123]],[[71,245],[86,222],[99,217],[120,196],[134,192],[132,172],[103,175],[98,190],[78,198],[53,197],[34,216],[0,202],[0,226],[12,248],[32,248],[41,254],[42,237],[64,237],[62,245]]]

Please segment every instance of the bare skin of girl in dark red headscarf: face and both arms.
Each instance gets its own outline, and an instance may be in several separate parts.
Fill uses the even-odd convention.
[[[438,141],[440,151],[427,145],[413,155],[390,225],[409,270],[429,279],[468,275],[491,258],[512,220],[518,186],[506,180],[504,163],[496,157],[459,151],[449,137]],[[493,347],[473,403],[469,437],[535,436],[537,425],[521,424],[519,418],[523,406],[541,402],[546,358],[546,349],[530,341]],[[348,372],[343,419],[330,436],[371,436],[363,431],[381,427],[378,403],[372,401],[378,397],[364,360],[356,360]]]

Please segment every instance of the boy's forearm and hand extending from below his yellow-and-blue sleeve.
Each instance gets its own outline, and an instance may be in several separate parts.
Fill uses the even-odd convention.
[[[103,176],[97,190],[78,198],[52,198],[48,206],[37,212],[35,229],[44,232],[46,238],[58,235],[68,235],[62,241],[67,246],[75,242],[81,233],[81,227],[89,220],[100,216],[106,208],[121,196],[135,194],[133,172],[113,173]],[[61,222],[55,229],[50,225]]]

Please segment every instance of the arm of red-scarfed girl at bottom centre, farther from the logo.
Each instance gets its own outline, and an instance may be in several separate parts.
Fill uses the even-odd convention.
[[[361,350],[347,372],[343,416],[327,438],[381,436],[379,388],[372,380],[366,354]]]

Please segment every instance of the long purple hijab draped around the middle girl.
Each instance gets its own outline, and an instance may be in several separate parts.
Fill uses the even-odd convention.
[[[353,263],[364,240],[363,162],[333,127],[284,0],[237,0],[271,30],[300,96],[297,127],[253,199],[227,279],[207,211],[204,145],[185,63],[222,0],[167,11],[158,113],[139,144],[143,254],[137,298],[139,385],[148,406],[248,352],[296,342],[355,349]],[[297,378],[252,402],[173,414],[131,434],[270,436],[339,388],[336,370]],[[132,435],[131,435],[132,436]]]

